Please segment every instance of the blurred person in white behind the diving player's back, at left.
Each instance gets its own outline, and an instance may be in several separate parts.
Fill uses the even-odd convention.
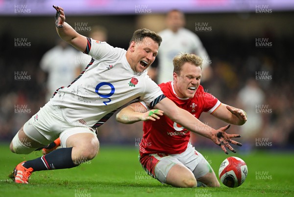
[[[48,73],[46,102],[56,89],[70,85],[80,74],[78,57],[78,51],[61,39],[44,54],[40,66]]]

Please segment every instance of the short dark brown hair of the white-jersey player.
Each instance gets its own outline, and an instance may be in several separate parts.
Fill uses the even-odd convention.
[[[160,44],[162,42],[161,36],[159,36],[154,31],[151,31],[149,29],[144,28],[144,29],[138,29],[134,32],[133,37],[131,38],[129,44],[131,44],[131,42],[133,42],[133,41],[135,43],[142,42],[144,40],[144,38],[146,38],[146,37],[151,38],[153,41],[155,41],[158,44],[158,46],[160,46]]]

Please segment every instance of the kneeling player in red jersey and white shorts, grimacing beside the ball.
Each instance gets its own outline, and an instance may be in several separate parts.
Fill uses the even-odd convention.
[[[159,85],[164,95],[196,118],[204,111],[227,123],[243,125],[247,120],[244,110],[225,105],[204,91],[200,85],[201,65],[201,58],[194,54],[176,56],[173,82]],[[117,120],[125,124],[145,121],[140,143],[140,163],[144,170],[161,183],[175,187],[220,187],[210,164],[189,142],[190,131],[165,115],[159,118],[162,113],[149,110],[145,102],[140,101],[117,114]]]

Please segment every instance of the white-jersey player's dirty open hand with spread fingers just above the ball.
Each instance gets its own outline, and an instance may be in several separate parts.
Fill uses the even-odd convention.
[[[231,147],[231,144],[235,144],[238,146],[242,146],[241,143],[231,140],[231,138],[234,137],[241,137],[239,134],[228,134],[225,131],[230,128],[231,125],[227,125],[225,127],[221,127],[220,129],[216,130],[215,133],[212,134],[212,141],[214,141],[217,145],[221,146],[221,149],[224,151],[224,153],[228,154],[226,148],[231,150],[233,153],[236,153],[236,151]]]

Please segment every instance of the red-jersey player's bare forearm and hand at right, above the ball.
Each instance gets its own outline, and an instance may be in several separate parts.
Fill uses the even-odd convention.
[[[212,115],[233,125],[244,125],[247,121],[247,115],[244,110],[225,104],[221,104],[221,106],[213,112]]]

